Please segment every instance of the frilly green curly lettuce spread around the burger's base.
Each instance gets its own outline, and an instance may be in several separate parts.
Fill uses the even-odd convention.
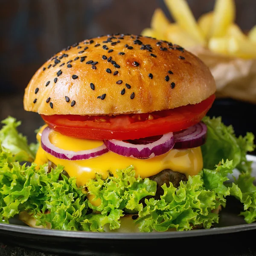
[[[245,221],[256,221],[256,186],[251,177],[247,151],[254,148],[253,134],[236,138],[232,127],[220,118],[204,118],[207,143],[202,147],[204,169],[175,188],[164,184],[163,195],[154,199],[156,182],[135,176],[133,166],[116,170],[102,179],[96,175],[86,187],[77,187],[76,177],[66,177],[63,166],[48,172],[47,165],[31,162],[35,152],[17,132],[17,122],[9,117],[0,130],[0,222],[26,211],[37,225],[61,230],[104,232],[120,227],[125,213],[137,214],[134,220],[141,232],[210,228],[218,223],[216,209],[225,207],[226,197],[235,196],[244,204]],[[225,161],[223,160],[225,159]],[[228,175],[237,168],[241,174],[234,183]],[[87,193],[99,200],[93,205]]]

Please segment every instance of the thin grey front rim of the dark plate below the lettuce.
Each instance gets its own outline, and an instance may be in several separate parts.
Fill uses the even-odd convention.
[[[256,162],[256,156],[247,155],[247,159]],[[228,227],[213,227],[210,229],[200,230],[188,230],[188,231],[167,231],[167,232],[152,232],[152,233],[97,233],[97,232],[85,232],[85,231],[65,231],[65,230],[48,230],[43,228],[26,227],[15,224],[0,224],[0,230],[11,233],[23,233],[39,236],[55,236],[55,237],[67,237],[77,239],[169,239],[180,237],[192,237],[192,236],[207,236],[225,233],[235,233],[240,231],[254,230],[256,229],[256,223],[251,224],[239,224]]]

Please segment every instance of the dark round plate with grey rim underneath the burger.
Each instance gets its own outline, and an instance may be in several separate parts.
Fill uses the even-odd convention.
[[[256,156],[248,155],[247,157],[248,160],[253,161],[253,176],[256,177]],[[235,170],[233,175],[236,177],[238,172]],[[230,177],[230,179],[233,178]],[[0,241],[53,253],[97,256],[109,253],[111,255],[137,255],[142,251],[145,253],[148,250],[146,248],[151,248],[151,244],[163,246],[166,243],[178,244],[180,241],[193,244],[198,241],[199,237],[200,241],[207,243],[209,240],[214,241],[216,235],[224,239],[232,237],[234,239],[236,233],[243,238],[252,232],[255,235],[256,223],[246,224],[244,219],[238,216],[242,205],[236,199],[228,198],[227,207],[220,213],[219,223],[207,230],[163,233],[93,233],[37,229],[22,224],[0,224]],[[209,252],[208,255],[215,254]]]

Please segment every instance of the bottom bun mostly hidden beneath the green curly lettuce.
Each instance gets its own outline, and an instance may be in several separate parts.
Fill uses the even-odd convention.
[[[221,206],[219,206],[217,209],[212,210],[214,213],[219,213],[221,211]],[[105,232],[117,232],[117,233],[138,233],[140,232],[138,225],[134,224],[134,217],[137,215],[125,215],[120,218],[120,227],[116,230],[110,230],[109,225],[104,226]],[[47,223],[47,226],[44,227],[42,225],[36,226],[36,219],[33,218],[31,215],[29,215],[27,212],[20,212],[19,219],[26,223],[30,227],[36,227],[36,228],[47,228],[50,229],[51,225]],[[192,229],[201,229],[203,228],[201,225],[192,227]],[[175,228],[170,228],[168,231],[176,231]],[[156,232],[156,231],[155,231]]]

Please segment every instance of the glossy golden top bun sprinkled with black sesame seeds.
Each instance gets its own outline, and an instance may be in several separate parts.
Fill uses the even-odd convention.
[[[167,41],[107,35],[51,57],[25,89],[24,108],[44,115],[150,113],[196,104],[215,93],[208,67]]]

